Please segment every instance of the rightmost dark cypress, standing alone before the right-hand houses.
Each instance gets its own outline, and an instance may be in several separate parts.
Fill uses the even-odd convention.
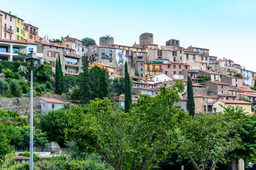
[[[187,111],[190,116],[195,115],[195,101],[194,101],[194,93],[193,93],[193,87],[192,87],[192,81],[190,77],[188,76],[188,82],[187,82]]]

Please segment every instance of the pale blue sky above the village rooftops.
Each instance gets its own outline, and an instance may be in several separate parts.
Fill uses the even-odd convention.
[[[115,44],[139,44],[142,33],[154,43],[171,38],[180,46],[207,48],[209,55],[225,57],[255,71],[256,1],[2,1],[0,9],[38,27],[50,39],[69,35],[77,39],[110,35]]]

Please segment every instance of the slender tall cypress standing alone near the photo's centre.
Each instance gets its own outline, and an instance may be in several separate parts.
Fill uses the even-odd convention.
[[[124,109],[125,113],[127,113],[130,109],[130,105],[132,103],[132,93],[131,93],[131,78],[128,73],[128,67],[127,67],[127,61],[125,61],[125,71],[124,71],[124,95],[125,95],[125,100],[124,100]]]

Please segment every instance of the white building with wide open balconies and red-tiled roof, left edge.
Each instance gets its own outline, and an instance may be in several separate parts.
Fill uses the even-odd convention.
[[[19,53],[28,54],[30,50],[34,51],[36,56],[42,59],[42,52],[37,49],[36,43],[0,39],[0,59],[2,61],[24,62],[24,57],[20,56]]]

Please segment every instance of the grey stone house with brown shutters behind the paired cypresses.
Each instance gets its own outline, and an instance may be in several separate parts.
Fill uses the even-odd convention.
[[[35,41],[35,43],[37,44],[37,52],[43,53],[43,60],[51,63],[52,71],[54,73],[56,69],[56,59],[60,56],[62,72],[64,73],[64,47],[56,43],[47,43],[44,41]]]

